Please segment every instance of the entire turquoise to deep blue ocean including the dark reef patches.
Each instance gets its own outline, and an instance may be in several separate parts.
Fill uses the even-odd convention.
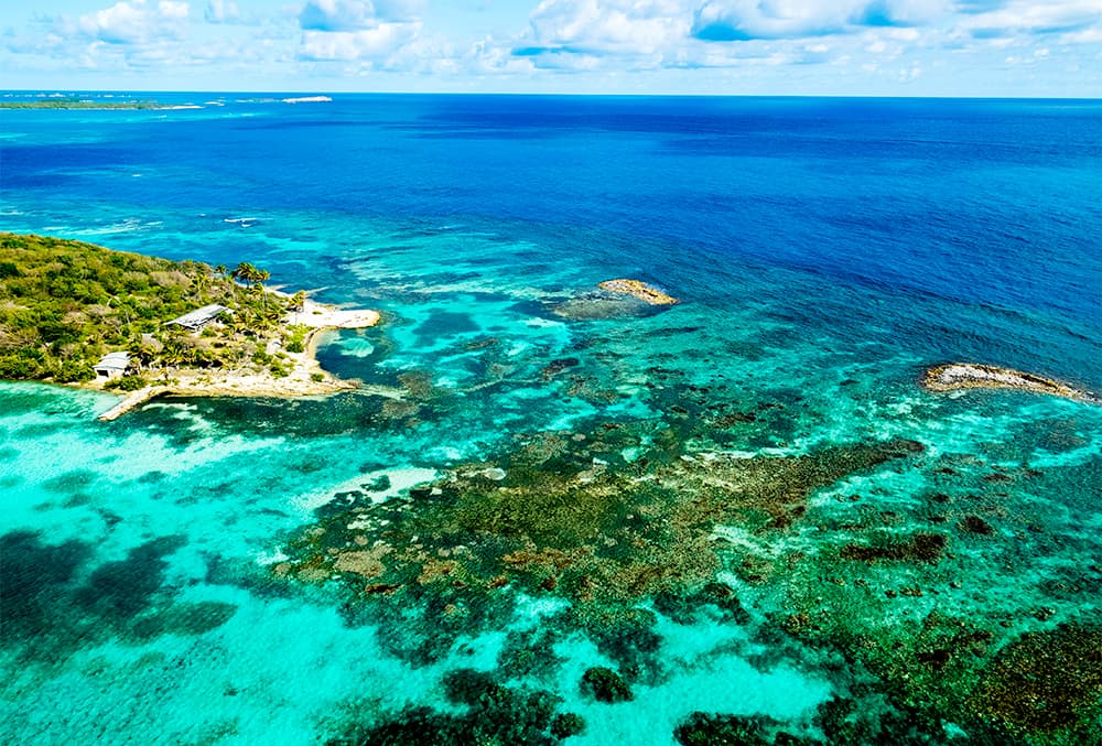
[[[0,111],[0,229],[383,323],[0,382],[0,740],[1102,743],[1102,408],[919,386],[1102,391],[1102,102],[152,97]]]

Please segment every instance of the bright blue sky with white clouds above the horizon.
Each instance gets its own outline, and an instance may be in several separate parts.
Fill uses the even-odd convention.
[[[1102,0],[39,0],[29,89],[1102,96]]]

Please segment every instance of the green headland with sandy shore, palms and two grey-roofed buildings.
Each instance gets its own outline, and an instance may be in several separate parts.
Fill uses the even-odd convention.
[[[356,387],[321,368],[317,333],[374,326],[266,286],[270,273],[0,234],[0,379],[129,393],[101,419],[176,396],[302,397]]]

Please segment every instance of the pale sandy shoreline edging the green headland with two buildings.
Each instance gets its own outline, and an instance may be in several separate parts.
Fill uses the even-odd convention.
[[[280,291],[271,292],[291,298]],[[287,376],[274,376],[270,370],[259,367],[179,368],[171,371],[165,369],[159,380],[153,380],[149,386],[123,396],[118,403],[96,419],[110,422],[148,401],[165,396],[299,399],[356,390],[359,388],[358,381],[337,378],[322,368],[316,357],[320,337],[327,331],[371,327],[381,318],[382,315],[378,311],[342,310],[307,299],[301,312],[291,312],[283,322],[284,326],[310,327],[303,339],[303,352],[281,350],[291,363]],[[82,385],[79,388],[104,391],[104,383],[96,381],[91,385]]]

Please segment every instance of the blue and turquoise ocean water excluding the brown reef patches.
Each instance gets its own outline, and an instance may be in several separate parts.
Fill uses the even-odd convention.
[[[815,491],[811,523],[780,543],[716,528],[738,533],[720,576],[754,621],[658,614],[661,671],[636,683],[634,703],[580,693],[581,671],[608,664],[585,635],[559,641],[566,662],[553,673],[506,680],[582,713],[573,742],[669,744],[693,711],[823,737],[817,709],[855,679],[825,649],[763,641],[758,627],[791,601],[739,577],[735,558],[843,541],[853,489],[903,517],[883,519],[888,531],[929,518],[916,506],[934,489],[984,506],[947,526],[969,510],[995,526],[986,543],[952,536],[952,570],[938,572],[955,587],[888,616],[854,612],[861,629],[888,639],[892,615],[937,612],[987,619],[1005,644],[1099,623],[1099,408],[917,386],[925,366],[968,360],[1102,390],[1099,101],[156,98],[202,108],[0,110],[0,229],[251,261],[273,283],[378,307],[386,324],[331,335],[323,364],[380,385],[422,371],[449,394],[409,428],[380,424],[359,394],[168,400],[104,424],[93,415],[107,394],[0,383],[3,574],[15,594],[0,612],[23,609],[0,657],[6,743],[324,743],[349,717],[454,711],[446,671],[497,670],[509,629],[539,627],[568,602],[527,598],[512,627],[411,662],[371,624],[350,624],[326,588],[269,588],[270,566],[316,508],[368,478],[387,475],[397,499],[515,435],[661,420],[668,402],[648,388],[660,370],[784,406],[745,432],[704,429],[692,454],[907,437],[927,461]],[[548,311],[615,277],[681,303],[599,321]],[[493,359],[477,352],[487,339]],[[613,394],[540,375],[565,356]],[[959,485],[937,471],[949,462]],[[1027,468],[1041,476],[980,480]],[[889,582],[877,573],[932,582],[871,572],[874,585]]]

